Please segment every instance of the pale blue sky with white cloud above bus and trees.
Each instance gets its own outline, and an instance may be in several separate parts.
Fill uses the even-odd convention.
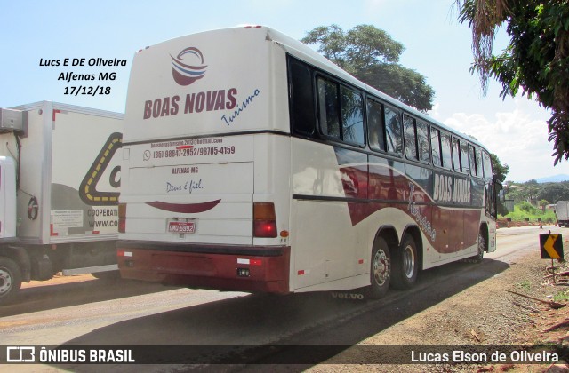
[[[132,56],[148,45],[243,24],[276,28],[296,39],[318,26],[336,24],[347,31],[370,24],[404,44],[399,62],[433,87],[429,115],[498,155],[509,165],[508,180],[569,175],[569,163],[553,166],[548,111],[526,97],[502,100],[495,82],[482,95],[477,75],[469,72],[471,32],[459,24],[454,0],[0,0],[0,14],[0,107],[51,100],[119,113]],[[507,44],[502,30],[496,51]],[[63,67],[66,58],[69,66]],[[73,59],[97,58],[126,60],[126,66],[71,66]],[[60,66],[49,66],[52,60]],[[73,84],[61,73],[100,71],[116,73],[106,84],[109,94],[65,94]]]

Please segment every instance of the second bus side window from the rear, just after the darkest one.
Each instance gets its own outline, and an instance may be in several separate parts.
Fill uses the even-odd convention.
[[[341,139],[338,85],[318,77],[317,87],[320,131],[325,136]]]

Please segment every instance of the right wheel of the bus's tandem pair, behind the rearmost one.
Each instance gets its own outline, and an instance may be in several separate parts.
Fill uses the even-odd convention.
[[[417,244],[413,236],[405,234],[401,247],[393,254],[393,271],[391,285],[398,290],[413,287],[419,273]]]

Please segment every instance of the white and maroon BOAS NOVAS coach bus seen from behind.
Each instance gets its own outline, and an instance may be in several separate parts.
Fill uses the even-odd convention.
[[[496,249],[485,147],[272,28],[137,52],[123,158],[128,279],[381,298]]]

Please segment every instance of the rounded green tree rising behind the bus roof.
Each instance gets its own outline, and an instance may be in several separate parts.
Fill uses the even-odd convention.
[[[317,44],[318,52],[362,82],[426,112],[435,91],[423,75],[398,64],[405,46],[372,25],[359,25],[344,32],[338,25],[320,26],[301,39]]]

